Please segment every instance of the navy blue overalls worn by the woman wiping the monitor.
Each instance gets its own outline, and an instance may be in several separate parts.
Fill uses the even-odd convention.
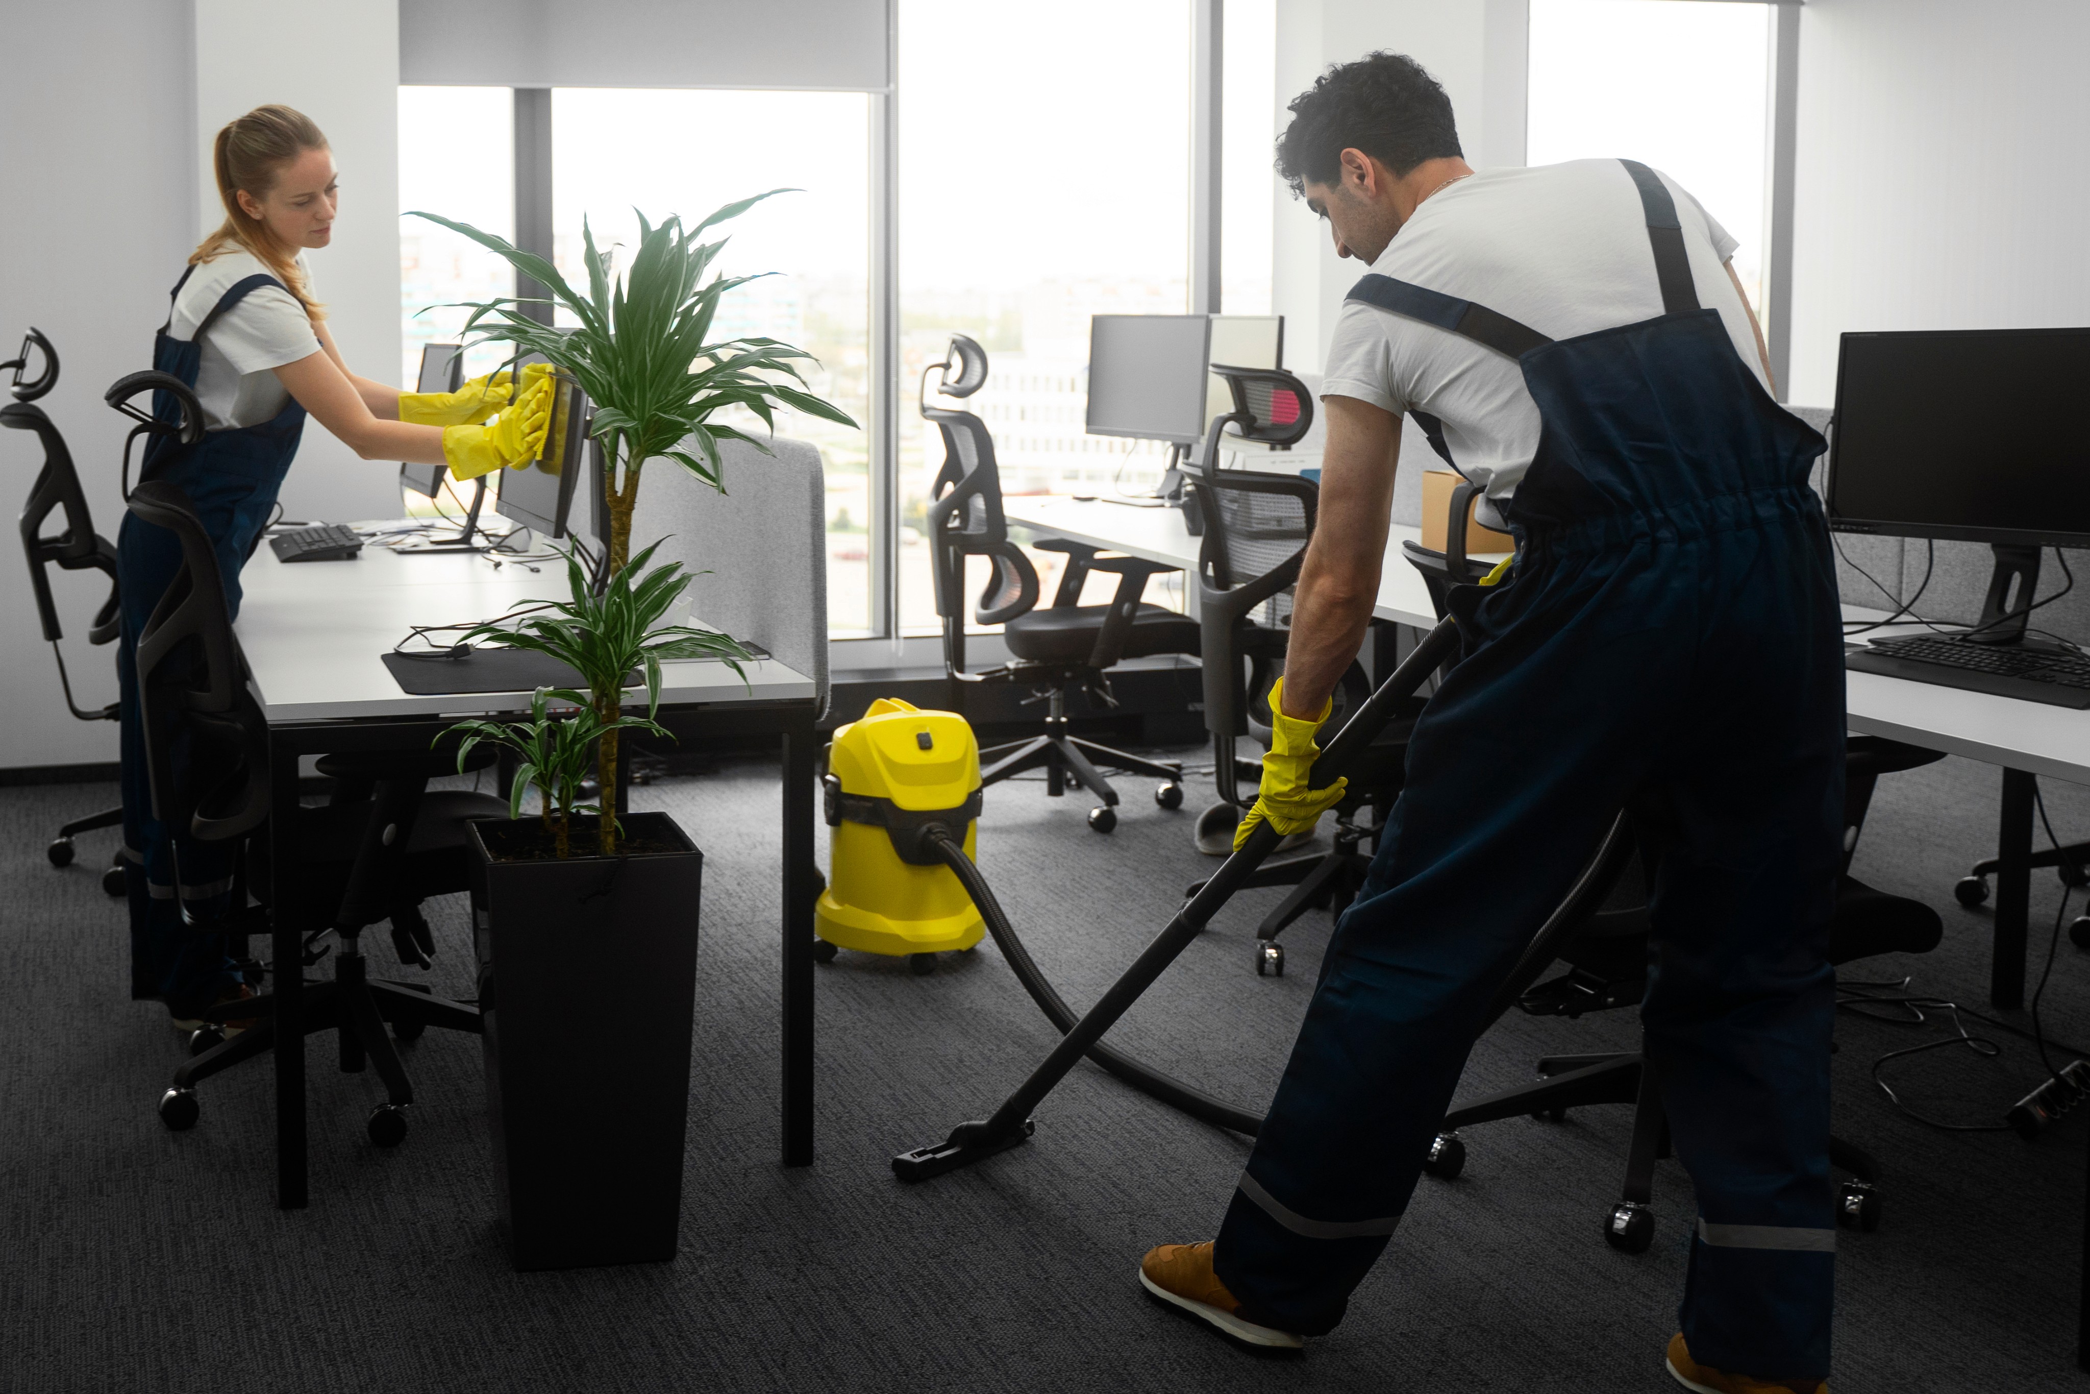
[[[176,282],[182,293],[188,276]],[[196,385],[203,362],[203,332],[228,313],[249,293],[261,286],[282,286],[274,276],[247,276],[228,288],[203,318],[190,339],[173,339],[173,313],[153,341],[153,368]],[[171,297],[169,297],[171,299]],[[171,393],[155,393],[153,414],[165,422],[180,420]],[[146,479],[176,485],[188,495],[203,527],[217,548],[217,573],[226,583],[232,617],[240,610],[240,566],[253,552],[276,508],[276,491],[297,439],[305,428],[305,408],[291,401],[259,426],[207,431],[194,445],[182,445],[171,435],[153,437],[146,449],[140,483]],[[180,882],[176,878],[176,844],[169,830],[153,817],[153,790],[146,780],[144,729],[138,719],[138,633],[182,566],[182,545],[173,533],[153,527],[125,512],[117,533],[117,585],[123,596],[123,631],[117,646],[117,679],[121,681],[123,725],[123,842],[130,853],[132,913],[132,995],[161,997],[176,1014],[207,1007],[219,991],[238,980],[226,957],[222,934],[199,934],[184,926],[182,907],[192,917],[213,917],[232,888],[232,861],[224,844],[194,842],[180,830]],[[180,759],[180,752],[178,752]]]

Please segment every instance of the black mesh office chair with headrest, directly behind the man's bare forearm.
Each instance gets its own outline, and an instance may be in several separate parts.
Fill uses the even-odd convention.
[[[1271,686],[1283,671],[1292,585],[1298,581],[1306,541],[1313,537],[1321,489],[1298,474],[1221,470],[1218,443],[1225,435],[1287,447],[1313,426],[1313,393],[1287,372],[1214,364],[1227,382],[1233,410],[1212,420],[1204,458],[1191,470],[1204,516],[1198,550],[1198,614],[1204,646],[1204,723],[1212,734],[1212,782],[1218,803],[1198,815],[1200,849],[1233,846],[1233,830],[1256,796],[1248,780],[1260,765],[1237,754],[1235,742],[1254,736],[1269,744]],[[1256,612],[1262,612],[1260,623]],[[1340,725],[1371,696],[1365,671],[1350,665],[1336,692],[1329,721]],[[1248,886],[1292,886],[1292,892],[1256,926],[1256,974],[1283,974],[1285,951],[1277,936],[1308,909],[1342,913],[1365,884],[1371,844],[1407,773],[1409,736],[1421,713],[1413,698],[1379,731],[1350,771],[1350,784],[1336,805],[1333,849],[1323,855],[1273,859],[1260,865]],[[1333,727],[1329,727],[1333,729]],[[1365,815],[1369,813],[1369,821]],[[1306,838],[1302,838],[1306,840]],[[1191,886],[1195,895],[1200,886]]]

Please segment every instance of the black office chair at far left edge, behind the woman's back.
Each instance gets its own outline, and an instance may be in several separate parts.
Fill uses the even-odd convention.
[[[23,374],[29,370],[33,357],[44,359],[42,370],[33,378],[25,378]],[[115,702],[82,708],[73,700],[73,677],[65,669],[65,650],[59,648],[59,642],[65,637],[65,625],[59,621],[59,604],[50,587],[52,566],[59,571],[100,571],[109,577],[109,598],[88,625],[88,644],[111,644],[121,627],[121,617],[117,614],[117,550],[107,537],[94,531],[94,520],[88,516],[88,495],[79,487],[79,472],[73,468],[73,454],[65,447],[65,437],[59,435],[59,426],[44,414],[44,408],[33,405],[38,397],[44,397],[59,385],[59,353],[50,347],[50,339],[42,330],[31,328],[21,341],[21,353],[0,362],[0,372],[8,370],[15,374],[15,401],[0,408],[0,426],[33,431],[44,445],[44,468],[38,472],[36,485],[29,489],[29,502],[21,510],[21,550],[29,558],[29,589],[36,594],[36,614],[44,625],[44,642],[50,644],[52,658],[59,660],[59,686],[65,692],[65,708],[79,721],[115,721]],[[52,514],[63,514],[65,531],[46,537],[44,525]],[[44,849],[44,855],[50,857],[50,865],[67,867],[73,863],[75,836],[121,826],[121,805],[90,817],[77,817],[59,828],[59,836]],[[109,869],[102,872],[102,890],[123,895],[121,844]]]

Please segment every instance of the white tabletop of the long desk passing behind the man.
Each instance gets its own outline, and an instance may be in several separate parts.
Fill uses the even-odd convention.
[[[1007,497],[1009,522],[1141,556],[1150,562],[1193,568],[1198,539],[1175,508],[1124,508],[1101,499]],[[1421,573],[1400,560],[1402,541],[1419,541],[1421,531],[1394,525],[1379,575],[1373,617],[1400,625],[1436,623]],[[1494,558],[1490,558],[1494,560]],[[1848,619],[1883,619],[1881,610],[1843,608]],[[1883,629],[1881,635],[1906,629]],[[1931,750],[1965,754],[1985,765],[2054,775],[2090,784],[2090,713],[2042,702],[1912,683],[1883,673],[1850,673],[1845,704],[1850,729],[1891,736]]]

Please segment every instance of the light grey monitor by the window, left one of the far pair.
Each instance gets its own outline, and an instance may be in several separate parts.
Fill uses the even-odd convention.
[[[1212,316],[1089,320],[1089,435],[1204,439],[1210,336]]]

